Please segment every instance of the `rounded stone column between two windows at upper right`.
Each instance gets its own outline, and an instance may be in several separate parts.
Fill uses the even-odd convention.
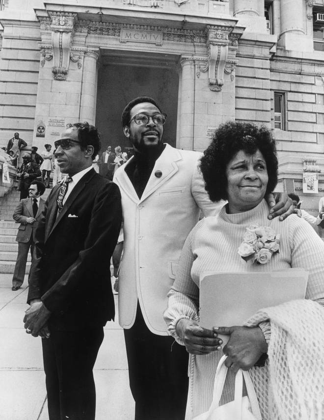
[[[280,0],[280,47],[286,50],[313,51],[311,37],[304,32],[303,17],[303,0]]]

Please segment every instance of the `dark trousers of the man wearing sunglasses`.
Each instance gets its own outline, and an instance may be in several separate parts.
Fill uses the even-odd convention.
[[[94,420],[96,389],[93,379],[104,329],[52,331],[42,339],[50,420]]]

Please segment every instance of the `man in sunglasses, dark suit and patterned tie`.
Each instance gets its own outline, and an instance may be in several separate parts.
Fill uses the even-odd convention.
[[[116,184],[92,168],[97,129],[70,125],[55,141],[68,178],[52,189],[36,231],[24,318],[42,337],[49,419],[94,420],[93,366],[114,318],[110,258],[122,218]]]

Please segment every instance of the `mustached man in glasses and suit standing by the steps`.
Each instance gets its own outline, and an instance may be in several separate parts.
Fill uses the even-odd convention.
[[[20,223],[16,241],[18,242],[18,256],[12,278],[12,290],[16,291],[24,283],[28,251],[30,248],[31,260],[34,252],[35,232],[45,201],[41,198],[45,185],[40,181],[30,184],[29,198],[20,200],[13,218]]]

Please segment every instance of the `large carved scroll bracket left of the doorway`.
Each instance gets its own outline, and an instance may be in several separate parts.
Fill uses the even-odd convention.
[[[66,80],[71,58],[72,34],[77,15],[65,12],[49,12],[49,14],[52,18],[53,77],[55,80]]]

